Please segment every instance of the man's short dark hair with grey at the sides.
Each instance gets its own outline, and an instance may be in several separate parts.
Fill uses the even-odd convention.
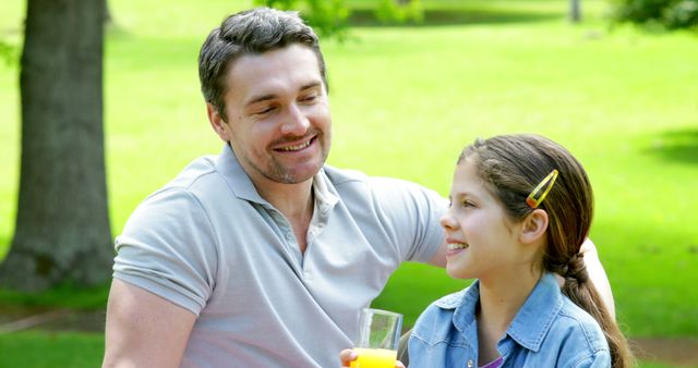
[[[298,12],[257,8],[226,17],[210,32],[198,53],[198,78],[206,102],[210,102],[226,120],[225,78],[234,60],[245,54],[261,54],[293,44],[308,46],[317,57],[323,83],[327,88],[325,60],[317,36]]]

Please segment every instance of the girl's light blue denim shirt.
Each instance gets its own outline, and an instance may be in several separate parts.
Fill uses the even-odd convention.
[[[409,368],[478,367],[479,282],[432,303],[409,340]],[[497,342],[504,367],[611,367],[599,323],[545,273]]]

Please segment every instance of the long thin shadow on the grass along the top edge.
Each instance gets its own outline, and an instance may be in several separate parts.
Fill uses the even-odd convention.
[[[550,21],[561,19],[564,14],[537,10],[506,10],[506,9],[425,9],[421,23],[382,23],[375,16],[373,9],[353,9],[349,15],[352,26],[444,26],[444,25],[476,25],[476,24],[507,24]]]

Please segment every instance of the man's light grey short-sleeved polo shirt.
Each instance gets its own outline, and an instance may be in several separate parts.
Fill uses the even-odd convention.
[[[337,367],[360,308],[443,242],[445,203],[416,184],[325,165],[313,191],[304,255],[228,146],[133,212],[113,277],[197,316],[182,367]]]

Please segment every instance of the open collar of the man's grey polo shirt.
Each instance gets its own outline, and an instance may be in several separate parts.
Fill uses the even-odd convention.
[[[216,160],[216,170],[224,176],[230,191],[232,191],[238,198],[270,206],[269,203],[257,193],[252,180],[240,164],[240,161],[238,161],[230,145],[224,145],[222,151]],[[330,192],[330,186],[332,183],[327,175],[325,175],[325,170],[321,169],[320,172],[313,176],[313,194],[315,195],[315,204],[323,214],[326,214],[339,200],[337,196]]]

